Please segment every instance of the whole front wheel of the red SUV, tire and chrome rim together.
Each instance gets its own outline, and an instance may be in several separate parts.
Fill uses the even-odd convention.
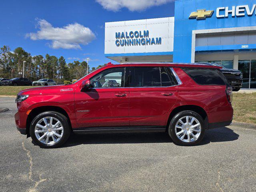
[[[61,146],[68,139],[70,132],[68,118],[53,111],[40,113],[30,125],[32,140],[42,148]]]

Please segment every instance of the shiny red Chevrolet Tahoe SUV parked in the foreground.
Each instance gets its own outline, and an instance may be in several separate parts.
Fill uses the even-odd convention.
[[[168,132],[192,146],[233,117],[232,88],[220,67],[205,64],[108,64],[71,85],[23,90],[16,102],[18,130],[44,148],[71,131]]]

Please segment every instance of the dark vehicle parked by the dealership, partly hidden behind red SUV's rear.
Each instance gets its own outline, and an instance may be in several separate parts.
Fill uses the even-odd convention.
[[[211,66],[222,67],[220,71],[224,74],[230,86],[232,86],[233,91],[239,91],[241,89],[243,85],[243,74],[241,71],[235,70],[235,69],[227,69],[224,66],[217,63],[209,63],[209,62],[201,62],[201,63],[211,65]]]

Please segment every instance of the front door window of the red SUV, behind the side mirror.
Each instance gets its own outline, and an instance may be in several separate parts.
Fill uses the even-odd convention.
[[[93,88],[124,87],[125,68],[110,68],[90,79]]]

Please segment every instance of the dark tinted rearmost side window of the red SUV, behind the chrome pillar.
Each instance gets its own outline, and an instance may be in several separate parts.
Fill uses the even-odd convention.
[[[221,72],[217,69],[182,68],[199,85],[226,85]]]

